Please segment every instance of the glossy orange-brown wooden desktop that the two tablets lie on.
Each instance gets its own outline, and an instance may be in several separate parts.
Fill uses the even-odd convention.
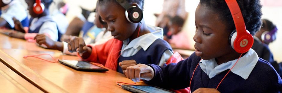
[[[62,55],[58,51],[50,51],[37,47],[24,40],[13,39],[0,35],[0,61],[12,69],[25,80],[43,92],[128,92],[116,85],[115,82],[133,83],[123,74],[113,70],[105,73],[81,72],[69,68],[58,62],[52,63],[33,57],[23,58],[26,55],[48,53],[55,58],[79,60],[76,56]],[[5,44],[11,44],[7,47]],[[21,47],[24,46],[24,47]],[[42,56],[51,60],[49,56]],[[145,85],[143,82],[136,85]]]

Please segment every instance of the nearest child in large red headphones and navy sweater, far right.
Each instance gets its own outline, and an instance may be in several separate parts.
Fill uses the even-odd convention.
[[[232,4],[237,4],[235,0],[232,1]],[[243,17],[234,16],[234,18],[244,20],[246,29],[254,35],[261,26],[260,1],[237,1]],[[126,77],[132,81],[143,79],[148,84],[166,89],[183,89],[190,86],[191,92],[195,93],[281,91],[282,80],[268,62],[258,58],[253,49],[249,49],[242,55],[229,44],[229,36],[232,37],[231,32],[234,32],[236,28],[225,1],[200,0],[195,13],[195,25],[196,34],[193,39],[196,42],[194,45],[196,51],[188,59],[178,64],[171,63],[166,67],[144,64],[131,66],[125,72]],[[252,39],[249,40],[251,42]],[[246,40],[242,41],[246,44]]]

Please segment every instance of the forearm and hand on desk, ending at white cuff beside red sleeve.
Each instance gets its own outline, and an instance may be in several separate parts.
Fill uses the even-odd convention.
[[[39,45],[44,44],[49,49],[57,49],[57,50],[63,52],[63,49],[64,49],[63,43],[58,42],[58,41],[53,41],[52,39],[50,39],[45,34],[37,34],[34,37],[34,39],[36,40],[36,43],[38,43]]]

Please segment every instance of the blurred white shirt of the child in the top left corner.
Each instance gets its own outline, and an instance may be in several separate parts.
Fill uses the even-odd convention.
[[[13,0],[8,5],[1,7],[1,18],[5,19],[7,23],[9,23],[11,27],[14,28],[15,24],[13,17],[21,22],[28,16],[25,9],[26,8],[18,0]]]

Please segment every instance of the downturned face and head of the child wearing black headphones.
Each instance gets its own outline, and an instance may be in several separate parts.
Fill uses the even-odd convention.
[[[115,39],[124,41],[132,36],[137,28],[137,23],[133,24],[126,20],[125,9],[117,2],[108,1],[99,6],[99,13],[108,24],[108,31],[111,31]]]

